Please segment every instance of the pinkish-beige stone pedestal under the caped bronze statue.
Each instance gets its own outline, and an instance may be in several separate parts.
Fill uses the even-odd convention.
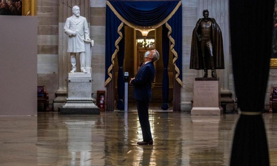
[[[195,78],[191,115],[221,115],[219,78]]]

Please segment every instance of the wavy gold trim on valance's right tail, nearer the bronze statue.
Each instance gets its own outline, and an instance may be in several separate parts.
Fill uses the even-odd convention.
[[[175,66],[175,71],[177,72],[175,75],[175,79],[177,80],[177,82],[181,85],[181,87],[183,87],[183,82],[180,80],[180,78],[178,77],[180,75],[180,70],[179,68],[176,66],[175,61],[178,59],[178,54],[177,52],[174,50],[174,46],[175,46],[175,40],[172,38],[172,36],[170,35],[172,32],[171,26],[166,22],[165,23],[166,28],[169,30],[167,33],[167,36],[169,38],[169,40],[171,41],[171,46],[170,46],[170,50],[171,52],[174,54],[174,58],[173,58],[173,65]]]

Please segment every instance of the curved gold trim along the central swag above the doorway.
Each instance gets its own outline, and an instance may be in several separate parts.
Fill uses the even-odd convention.
[[[175,14],[175,12],[178,10],[178,8],[181,6],[181,1],[179,1],[179,3],[175,6],[175,8],[172,10],[172,12],[166,18],[164,18],[164,20],[162,20],[158,24],[150,26],[150,27],[148,27],[148,26],[147,27],[143,27],[143,26],[137,26],[137,25],[132,24],[131,22],[127,21],[125,18],[123,18],[117,12],[109,1],[107,1],[107,5],[111,8],[113,13],[119,18],[119,20],[124,22],[124,24],[128,25],[129,27],[134,28],[134,29],[139,29],[139,30],[149,30],[149,29],[156,29],[156,28],[162,26],[164,23],[166,23]]]

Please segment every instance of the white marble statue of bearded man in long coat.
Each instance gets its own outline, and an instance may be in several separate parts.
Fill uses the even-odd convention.
[[[68,35],[67,52],[70,52],[70,61],[72,70],[76,72],[76,53],[80,53],[81,72],[87,73],[85,69],[85,41],[91,41],[89,38],[89,27],[87,19],[80,16],[80,8],[72,7],[73,15],[66,19],[64,32]]]

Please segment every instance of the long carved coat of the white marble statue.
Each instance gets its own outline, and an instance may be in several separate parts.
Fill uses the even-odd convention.
[[[67,52],[85,52],[84,39],[89,38],[87,19],[82,16],[75,19],[74,16],[71,16],[66,19],[63,29],[67,35],[72,32],[77,33],[76,36],[68,36]]]

